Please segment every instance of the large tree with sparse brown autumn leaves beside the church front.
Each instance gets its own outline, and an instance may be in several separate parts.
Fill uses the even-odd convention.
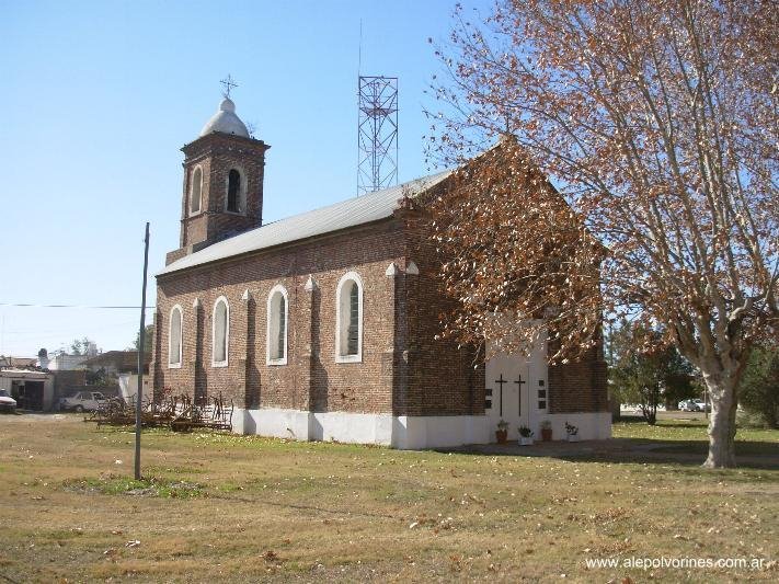
[[[446,334],[520,344],[484,313],[543,312],[565,359],[597,342],[600,310],[662,329],[711,396],[704,466],[734,466],[742,371],[778,335],[776,3],[504,0],[455,22],[433,153],[461,164],[509,138],[434,208],[461,250]]]

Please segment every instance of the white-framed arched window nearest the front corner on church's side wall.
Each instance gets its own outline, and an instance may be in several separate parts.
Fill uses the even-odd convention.
[[[355,272],[339,282],[335,319],[335,360],[363,360],[363,280]]]

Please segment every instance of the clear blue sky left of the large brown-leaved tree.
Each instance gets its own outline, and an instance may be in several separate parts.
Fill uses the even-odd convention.
[[[489,10],[488,0],[466,5]],[[0,0],[0,302],[139,305],[179,240],[183,160],[220,100],[272,146],[264,220],[356,194],[357,62],[399,77],[400,181],[431,171],[425,94],[454,2]],[[150,279],[150,304],[154,280]],[[0,306],[0,354],[135,337],[136,310]]]

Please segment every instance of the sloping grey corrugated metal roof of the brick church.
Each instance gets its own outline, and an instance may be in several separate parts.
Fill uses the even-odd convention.
[[[390,217],[392,211],[398,208],[398,201],[404,194],[416,196],[446,179],[450,173],[451,171],[445,171],[424,176],[383,191],[376,191],[263,225],[185,255],[165,266],[158,275]]]

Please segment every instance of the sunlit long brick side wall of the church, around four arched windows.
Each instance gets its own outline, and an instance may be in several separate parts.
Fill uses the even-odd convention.
[[[402,249],[400,225],[388,220],[159,277],[156,390],[192,394],[197,385],[209,394],[221,391],[239,406],[391,412],[392,373],[386,354],[391,362],[394,283],[385,271],[392,261],[402,263],[397,255]],[[364,283],[362,363],[334,358],[336,287],[348,271]],[[309,276],[317,283],[312,291],[305,289]],[[289,301],[288,363],[283,366],[266,364],[267,295],[276,284],[285,286]],[[247,289],[248,302],[241,300]],[[211,366],[213,308],[219,296],[230,306],[227,367]],[[177,369],[168,367],[169,314],[176,304],[184,313]]]

